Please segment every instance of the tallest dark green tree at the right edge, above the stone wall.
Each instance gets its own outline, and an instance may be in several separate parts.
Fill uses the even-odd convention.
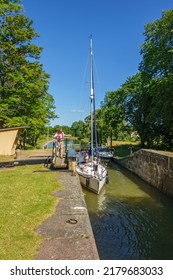
[[[156,137],[173,146],[173,10],[145,26],[140,71],[148,84],[152,106],[148,120]],[[146,83],[146,82],[145,82]]]

